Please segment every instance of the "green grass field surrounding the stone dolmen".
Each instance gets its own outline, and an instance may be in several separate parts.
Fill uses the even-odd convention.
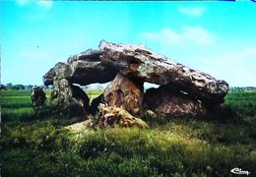
[[[256,91],[230,91],[222,114],[77,133],[64,127],[79,118],[35,115],[30,94],[1,92],[2,176],[256,176]]]

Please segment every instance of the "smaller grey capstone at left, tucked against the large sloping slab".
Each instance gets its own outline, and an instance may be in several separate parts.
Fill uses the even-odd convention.
[[[83,86],[112,81],[117,71],[101,64],[100,53],[97,50],[88,50],[70,57],[67,63],[57,63],[43,76],[44,85],[53,85],[54,78],[66,79],[70,83]]]

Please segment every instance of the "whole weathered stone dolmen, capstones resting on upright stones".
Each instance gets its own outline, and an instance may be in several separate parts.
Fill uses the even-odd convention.
[[[74,86],[111,81],[92,105],[84,90]],[[99,111],[104,115],[108,115],[102,112],[107,112],[106,107],[96,108],[100,102],[107,103],[111,111],[120,108],[132,115],[146,109],[171,115],[201,115],[220,105],[228,90],[224,81],[176,63],[144,45],[104,40],[98,50],[89,49],[70,57],[66,63],[57,63],[43,76],[43,82],[46,86],[53,85],[51,100],[57,105],[69,107],[75,103],[86,113]],[[160,88],[144,93],[145,82]]]

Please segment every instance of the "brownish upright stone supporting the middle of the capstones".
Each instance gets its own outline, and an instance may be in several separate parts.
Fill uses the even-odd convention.
[[[117,74],[104,91],[104,101],[110,106],[123,107],[136,115],[142,110],[143,94],[143,83]]]

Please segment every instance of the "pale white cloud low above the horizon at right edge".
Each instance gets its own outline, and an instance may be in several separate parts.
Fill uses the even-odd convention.
[[[197,68],[225,80],[231,87],[256,87],[255,59],[256,45],[232,48],[198,57]]]

